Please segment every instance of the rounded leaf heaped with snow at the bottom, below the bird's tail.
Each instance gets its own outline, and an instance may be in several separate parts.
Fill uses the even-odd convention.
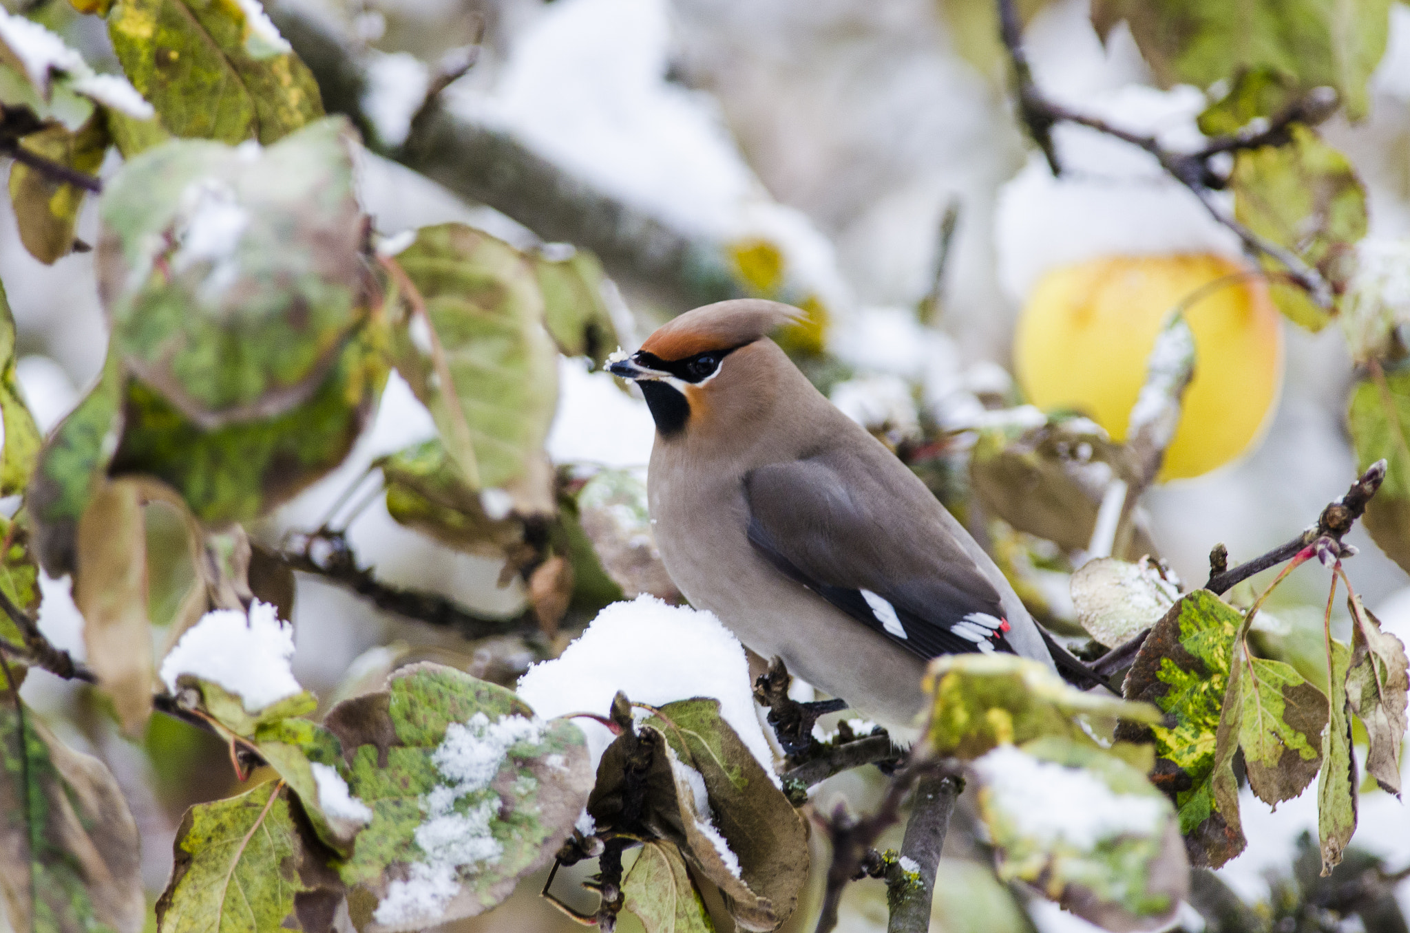
[[[1139,771],[1052,737],[973,768],[1001,879],[1032,884],[1108,930],[1175,916],[1189,894],[1184,846],[1170,802]]]

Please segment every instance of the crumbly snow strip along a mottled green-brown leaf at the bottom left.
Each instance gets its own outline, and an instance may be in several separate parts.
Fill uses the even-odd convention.
[[[475,713],[468,722],[446,729],[444,739],[431,753],[431,762],[446,782],[423,795],[426,819],[415,834],[426,858],[412,863],[406,879],[388,885],[372,919],[391,927],[433,925],[460,894],[462,871],[499,860],[503,846],[495,839],[491,823],[502,801],[489,785],[515,746],[537,746],[541,739],[543,723],[523,716],[501,716],[491,722],[485,713]],[[533,789],[515,788],[520,793]],[[471,805],[457,810],[457,802],[467,796],[474,798]]]

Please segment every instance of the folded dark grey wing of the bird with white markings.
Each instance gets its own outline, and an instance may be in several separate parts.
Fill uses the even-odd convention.
[[[1014,651],[1000,593],[938,514],[943,506],[909,475],[871,467],[833,450],[750,471],[750,544],[922,658]]]

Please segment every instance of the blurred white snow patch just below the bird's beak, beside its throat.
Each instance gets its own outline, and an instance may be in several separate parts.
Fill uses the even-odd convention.
[[[585,359],[558,358],[558,412],[547,451],[556,464],[646,467],[656,421],[646,402],[629,396],[608,372],[588,372]]]

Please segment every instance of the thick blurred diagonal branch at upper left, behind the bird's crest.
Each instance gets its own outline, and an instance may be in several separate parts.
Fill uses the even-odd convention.
[[[313,70],[323,106],[351,118],[371,144],[376,135],[362,110],[368,72],[361,54],[299,4],[269,3],[268,11]],[[670,304],[684,309],[743,296],[721,244],[673,230],[510,134],[477,124],[436,99],[417,113],[406,144],[381,155],[508,214],[546,241],[592,249],[613,278],[656,292]]]

